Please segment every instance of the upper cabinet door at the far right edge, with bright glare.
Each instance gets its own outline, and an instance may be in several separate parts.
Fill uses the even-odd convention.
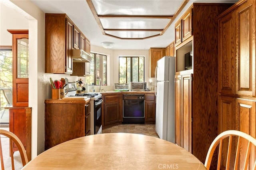
[[[236,11],[236,94],[255,96],[256,1]]]

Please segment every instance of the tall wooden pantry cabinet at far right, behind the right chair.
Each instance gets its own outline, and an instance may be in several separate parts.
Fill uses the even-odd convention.
[[[256,1],[241,0],[218,17],[218,133],[232,129],[256,137],[255,12]]]

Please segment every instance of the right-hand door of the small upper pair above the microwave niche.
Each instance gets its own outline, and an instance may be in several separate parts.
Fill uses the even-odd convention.
[[[182,17],[182,42],[192,36],[192,9]]]

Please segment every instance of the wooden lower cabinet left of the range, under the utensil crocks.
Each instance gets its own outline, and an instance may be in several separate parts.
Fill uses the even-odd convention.
[[[45,150],[90,134],[90,103],[45,101]]]

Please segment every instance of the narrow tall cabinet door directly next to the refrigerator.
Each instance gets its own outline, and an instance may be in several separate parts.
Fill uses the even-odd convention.
[[[181,75],[175,76],[175,140],[176,144],[182,147],[181,143]]]

